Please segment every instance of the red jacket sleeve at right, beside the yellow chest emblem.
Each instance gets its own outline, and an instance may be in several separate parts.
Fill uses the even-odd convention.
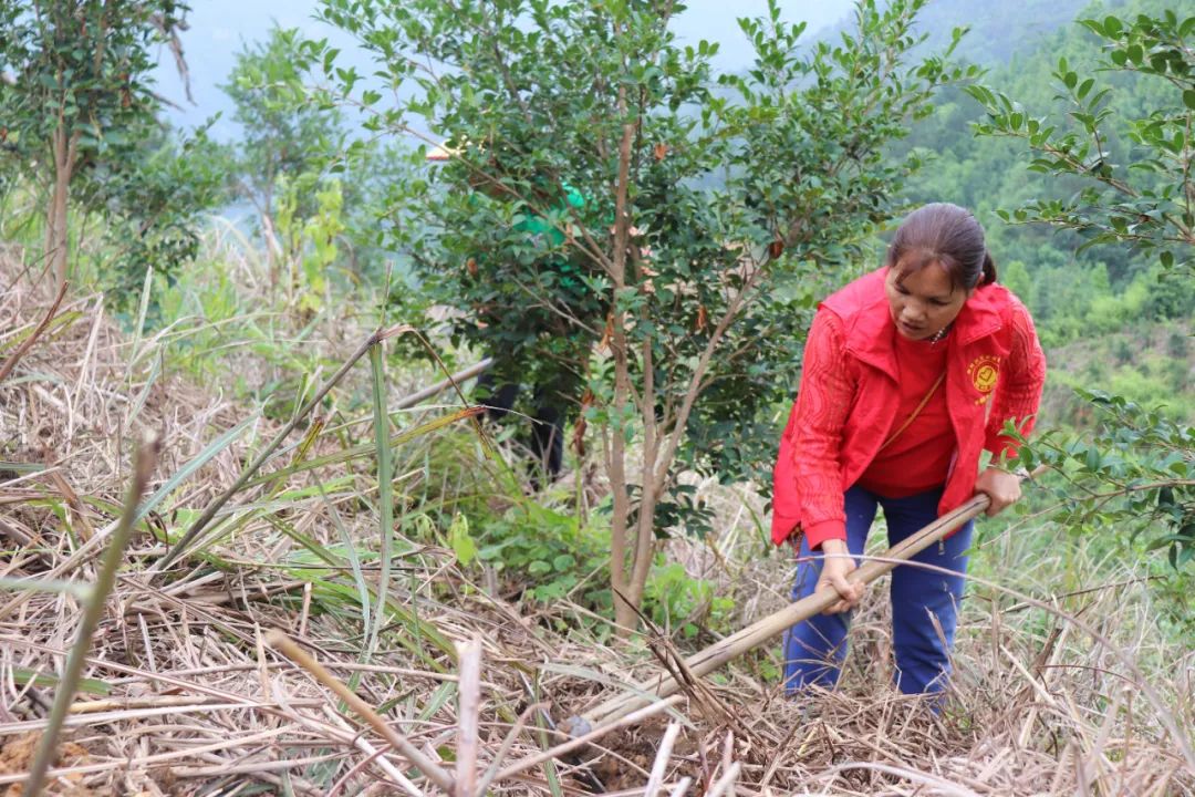
[[[1019,301],[1012,307],[1012,348],[1004,379],[995,390],[992,412],[988,415],[987,435],[983,447],[993,455],[1015,456],[1017,441],[1000,434],[1004,424],[1012,421],[1022,436],[1034,429],[1042,387],[1046,385],[1046,355],[1037,341],[1029,311]]]

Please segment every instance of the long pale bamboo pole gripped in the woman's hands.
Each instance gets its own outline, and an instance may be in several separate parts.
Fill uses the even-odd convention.
[[[1041,471],[1042,468],[1038,468]],[[1036,476],[1035,471],[1032,476]],[[870,584],[880,578],[901,562],[911,559],[917,553],[930,547],[946,534],[955,531],[967,521],[976,517],[987,510],[989,499],[986,495],[978,495],[962,507],[946,513],[929,526],[901,540],[899,544],[876,560],[865,563],[847,576],[847,581],[853,583]],[[710,645],[705,650],[698,651],[685,660],[685,667],[694,678],[711,673],[731,658],[742,656],[748,650],[753,650],[768,639],[780,634],[785,629],[808,620],[815,614],[820,614],[839,600],[838,590],[833,587],[821,589],[808,597],[789,603],[783,609],[774,612],[761,620],[742,629],[721,642]],[[571,723],[574,728],[598,728],[614,722],[637,709],[654,703],[660,698],[666,698],[680,689],[680,685],[672,676],[661,675],[637,683],[630,692],[625,692],[617,698],[611,698],[605,703],[590,709],[586,713],[575,718]],[[580,722],[577,722],[580,721]]]

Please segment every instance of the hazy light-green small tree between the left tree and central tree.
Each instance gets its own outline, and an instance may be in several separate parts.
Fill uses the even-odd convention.
[[[302,294],[305,312],[321,301],[315,299],[320,269],[335,262],[355,275],[378,277],[390,265],[385,231],[394,222],[388,211],[403,210],[387,197],[410,178],[405,151],[373,139],[350,140],[344,115],[312,85],[310,51],[296,29],[275,26],[264,42],[238,54],[221,86],[243,130],[226,163],[233,195],[253,206],[265,245],[282,249],[286,263],[271,260],[275,281],[288,278],[295,290],[301,271],[315,286]],[[321,219],[321,229],[300,233],[294,219]],[[301,234],[319,241],[315,256],[321,264],[298,253]],[[406,276],[399,274],[404,281]],[[410,281],[407,286],[417,287]],[[400,309],[417,314],[425,304],[411,293],[404,292],[409,301],[399,302]]]

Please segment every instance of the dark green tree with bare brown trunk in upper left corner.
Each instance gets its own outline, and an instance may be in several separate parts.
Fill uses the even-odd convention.
[[[27,0],[0,5],[0,118],[5,140],[47,188],[45,258],[67,278],[72,183],[128,154],[160,108],[151,48],[179,57],[176,0]]]

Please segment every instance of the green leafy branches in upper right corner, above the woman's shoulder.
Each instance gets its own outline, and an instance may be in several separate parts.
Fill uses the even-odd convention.
[[[1004,217],[1073,231],[1084,247],[1129,245],[1154,253],[1168,270],[1187,269],[1195,244],[1195,147],[1187,139],[1195,114],[1195,55],[1188,43],[1195,17],[1179,20],[1166,10],[1080,24],[1098,37],[1103,55],[1095,68],[1059,59],[1053,76],[1058,98],[1068,109],[1065,117],[1034,116],[986,86],[967,88],[988,115],[975,128],[979,135],[1028,142],[1031,171],[1074,179],[1080,186],[1068,198],[1030,200]],[[1160,92],[1151,94],[1156,106],[1121,122],[1128,149],[1120,158],[1109,142],[1123,111],[1110,104],[1111,80],[1102,73],[1162,84]]]

